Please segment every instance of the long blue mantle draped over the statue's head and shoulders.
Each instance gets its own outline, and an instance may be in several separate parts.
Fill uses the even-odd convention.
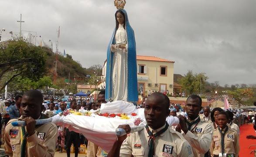
[[[134,37],[133,28],[129,24],[127,13],[124,9],[117,10],[122,11],[125,14],[126,21],[126,35],[127,35],[127,44],[128,44],[128,52],[127,52],[127,90],[128,96],[127,101],[129,102],[137,102],[138,101],[138,83],[137,83],[137,60],[136,60],[136,42]],[[116,14],[115,14],[116,15]],[[111,52],[111,45],[115,44],[115,34],[116,28],[112,34],[112,38],[109,42],[109,46],[107,49],[107,66],[106,66],[106,94],[105,99],[109,101],[109,98],[112,98],[112,93],[114,92],[112,86],[112,75],[113,75],[113,55]]]

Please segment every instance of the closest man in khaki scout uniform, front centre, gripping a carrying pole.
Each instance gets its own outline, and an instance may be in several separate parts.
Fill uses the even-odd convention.
[[[144,130],[130,133],[129,125],[118,128],[126,130],[126,134],[117,137],[108,157],[192,157],[191,146],[182,135],[166,122],[169,116],[170,100],[160,92],[152,93],[145,103]]]

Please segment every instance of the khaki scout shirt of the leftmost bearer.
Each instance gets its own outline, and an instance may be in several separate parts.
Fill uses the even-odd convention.
[[[22,129],[20,126],[14,127],[10,123],[16,120],[18,119],[11,119],[4,130],[5,153],[10,157],[20,157],[21,155]],[[27,137],[26,157],[53,157],[57,131],[58,128],[54,123],[36,126],[34,135]]]

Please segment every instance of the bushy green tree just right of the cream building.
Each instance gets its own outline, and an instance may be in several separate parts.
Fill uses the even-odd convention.
[[[205,73],[193,73],[192,70],[188,70],[188,73],[183,78],[179,79],[182,88],[189,92],[189,95],[194,92],[200,91],[204,87],[205,81],[208,79]]]

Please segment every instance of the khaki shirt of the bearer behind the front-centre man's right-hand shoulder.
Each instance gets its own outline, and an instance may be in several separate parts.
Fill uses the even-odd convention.
[[[212,132],[212,125],[201,119],[197,125],[195,123],[191,126],[191,130],[186,135],[183,132],[181,133],[191,145],[194,157],[204,157],[212,142]]]

